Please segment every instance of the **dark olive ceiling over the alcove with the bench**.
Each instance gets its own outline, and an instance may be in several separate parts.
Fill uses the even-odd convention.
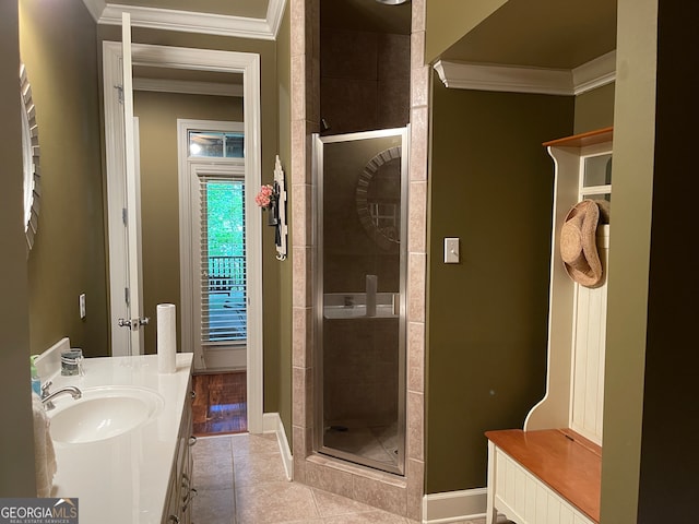
[[[616,48],[616,0],[509,0],[442,60],[574,69]]]

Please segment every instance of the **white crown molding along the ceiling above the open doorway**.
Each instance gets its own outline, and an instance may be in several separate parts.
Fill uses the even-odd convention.
[[[133,27],[274,40],[282,23],[285,3],[286,0],[270,0],[265,19],[107,3],[98,23],[119,25],[121,13],[127,12],[131,14]]]

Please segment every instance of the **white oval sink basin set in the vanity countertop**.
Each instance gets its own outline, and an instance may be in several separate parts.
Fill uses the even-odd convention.
[[[157,393],[142,388],[86,388],[82,397],[63,395],[48,412],[55,442],[80,444],[110,439],[155,417],[164,405]]]

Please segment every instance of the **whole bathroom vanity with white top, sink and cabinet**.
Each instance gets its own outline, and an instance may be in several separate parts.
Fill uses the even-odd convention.
[[[78,498],[81,522],[189,523],[192,485],[191,354],[158,374],[157,356],[90,358],[48,412],[58,472],[52,497]],[[102,420],[102,421],[99,421]]]

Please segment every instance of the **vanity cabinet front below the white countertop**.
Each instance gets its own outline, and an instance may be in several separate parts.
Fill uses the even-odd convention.
[[[192,434],[192,390],[191,377],[187,385],[182,419],[178,431],[175,464],[170,473],[167,503],[163,515],[163,524],[190,524],[192,499],[197,496],[193,486],[193,460],[191,446],[197,442]]]

